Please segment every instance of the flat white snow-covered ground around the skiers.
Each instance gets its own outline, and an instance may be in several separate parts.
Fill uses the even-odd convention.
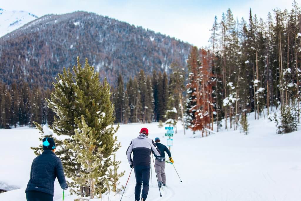
[[[166,185],[160,197],[154,169],[147,200],[150,201],[297,201],[301,199],[301,130],[289,134],[276,134],[275,124],[268,119],[254,120],[249,117],[250,134],[239,130],[223,131],[201,138],[200,133],[189,130],[184,136],[178,124],[171,148],[175,167],[183,180],[180,180],[171,164],[166,164]],[[131,171],[126,159],[126,149],[132,138],[138,136],[141,127],[149,129],[149,137],[160,137],[166,144],[164,127],[153,124],[121,125],[117,137],[122,147],[117,151],[120,171],[126,170],[120,178],[125,185]],[[21,127],[0,130],[1,165],[0,187],[20,188],[0,194],[1,201],[24,201],[25,188],[29,180],[30,165],[35,155],[29,148],[39,145],[37,130]],[[154,167],[152,167],[154,168]],[[135,176],[132,175],[123,201],[133,201]],[[57,181],[54,200],[62,200],[62,190]],[[122,193],[122,192],[121,192]],[[103,200],[117,201],[121,193],[103,195]],[[76,196],[67,196],[74,200]],[[109,198],[108,198],[109,196]]]

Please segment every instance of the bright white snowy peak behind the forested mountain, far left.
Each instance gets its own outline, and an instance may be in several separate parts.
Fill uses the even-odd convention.
[[[0,8],[0,37],[37,18],[38,16],[26,11],[7,11]]]

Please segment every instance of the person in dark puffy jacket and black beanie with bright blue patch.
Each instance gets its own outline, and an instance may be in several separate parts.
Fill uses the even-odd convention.
[[[53,138],[43,139],[43,150],[31,165],[30,179],[25,190],[27,201],[53,201],[55,178],[62,189],[68,188],[62,161],[54,153]]]

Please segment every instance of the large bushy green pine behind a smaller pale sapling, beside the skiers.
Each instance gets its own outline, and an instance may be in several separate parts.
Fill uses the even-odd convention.
[[[89,186],[78,185],[75,182],[81,177],[80,172],[85,169],[83,169],[83,164],[78,162],[78,155],[67,145],[74,143],[72,136],[75,134],[75,129],[78,129],[75,120],[83,115],[85,123],[92,128],[96,148],[101,150],[102,163],[98,166],[97,172],[102,173],[103,176],[98,178],[95,185],[103,187],[105,172],[111,165],[110,156],[120,146],[116,144],[116,137],[113,137],[119,127],[113,128],[114,105],[110,102],[110,86],[106,79],[101,85],[98,73],[94,72],[94,68],[88,64],[87,59],[82,68],[79,57],[77,57],[77,66],[73,67],[73,73],[70,68],[67,70],[64,68],[63,74],[58,74],[56,80],[51,99],[46,99],[48,107],[57,115],[54,117],[53,124],[49,126],[50,129],[57,135],[66,137],[63,141],[56,140],[56,154],[63,162],[66,176],[73,179],[69,183],[71,192],[89,196]],[[39,148],[35,148],[35,152],[37,149]]]

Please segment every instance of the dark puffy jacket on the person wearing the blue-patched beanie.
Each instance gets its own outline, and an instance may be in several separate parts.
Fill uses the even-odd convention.
[[[61,188],[67,188],[61,159],[51,150],[45,150],[41,155],[33,159],[30,169],[30,179],[25,193],[29,190],[36,190],[53,196],[56,177]]]

